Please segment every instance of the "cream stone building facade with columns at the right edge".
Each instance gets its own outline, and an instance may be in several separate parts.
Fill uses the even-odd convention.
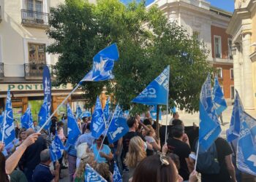
[[[233,36],[234,84],[244,108],[256,109],[256,1],[236,0],[227,27]]]

